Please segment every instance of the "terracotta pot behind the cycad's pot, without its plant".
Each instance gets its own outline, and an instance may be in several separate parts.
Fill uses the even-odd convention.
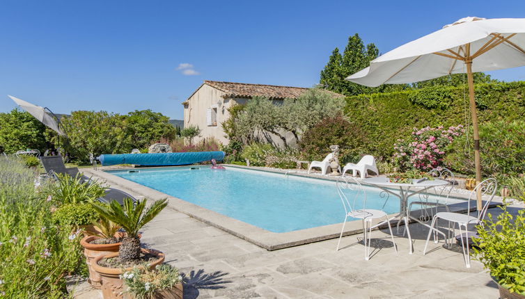
[[[115,234],[117,237],[123,236],[124,233],[118,232]],[[139,238],[141,234],[139,234]],[[102,282],[100,281],[100,275],[91,268],[93,259],[99,255],[109,254],[111,252],[118,252],[120,248],[120,242],[113,244],[91,244],[90,242],[96,239],[100,239],[99,236],[85,236],[81,239],[80,245],[84,248],[84,255],[86,256],[86,264],[88,264],[89,278],[88,283],[91,284],[95,289],[100,289]]]

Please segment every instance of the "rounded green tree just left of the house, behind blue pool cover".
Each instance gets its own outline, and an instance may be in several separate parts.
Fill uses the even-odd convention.
[[[133,148],[145,148],[160,139],[171,140],[176,129],[169,123],[169,117],[148,110],[136,110],[123,117],[126,143]]]

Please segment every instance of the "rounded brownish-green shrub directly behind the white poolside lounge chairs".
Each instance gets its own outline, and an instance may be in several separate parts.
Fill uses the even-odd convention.
[[[359,125],[336,115],[322,119],[304,132],[299,149],[307,160],[321,161],[331,152],[330,145],[339,145],[340,163],[357,162],[362,154],[367,154],[364,149],[367,143]]]

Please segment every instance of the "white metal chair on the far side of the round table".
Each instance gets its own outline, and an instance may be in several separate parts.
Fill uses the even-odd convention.
[[[419,204],[421,209],[421,216],[419,220],[426,221],[428,218],[430,218],[430,215],[437,213],[437,209],[439,207],[444,207],[447,212],[450,210],[448,209],[448,197],[450,196],[450,191],[454,188],[454,185],[456,184],[456,180],[454,178],[454,174],[448,170],[447,168],[434,168],[428,172],[428,175],[431,175],[432,177],[436,179],[442,179],[444,181],[448,181],[448,185],[444,186],[443,188],[437,189],[434,187],[434,191],[437,195],[437,199],[435,201],[429,200],[429,194],[428,193],[420,193],[419,194],[419,200],[416,200],[414,202],[410,202],[408,206],[408,213],[412,211],[412,206],[414,204]],[[445,198],[444,202],[439,202],[439,198]],[[435,210],[433,209],[435,208]],[[430,209],[430,212],[429,211]],[[435,211],[435,213],[432,213]]]

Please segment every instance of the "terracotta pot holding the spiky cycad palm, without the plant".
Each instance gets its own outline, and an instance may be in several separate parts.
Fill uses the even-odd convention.
[[[141,249],[144,253],[154,254],[159,259],[148,264],[150,268],[160,265],[164,262],[164,253],[155,249]],[[106,268],[98,265],[98,262],[102,258],[118,257],[118,252],[112,252],[105,255],[99,255],[93,259],[91,268],[97,272],[102,278],[102,298],[104,299],[123,299],[123,280],[120,279],[120,275],[123,271],[120,268]],[[132,270],[132,267],[125,268],[125,271]]]

